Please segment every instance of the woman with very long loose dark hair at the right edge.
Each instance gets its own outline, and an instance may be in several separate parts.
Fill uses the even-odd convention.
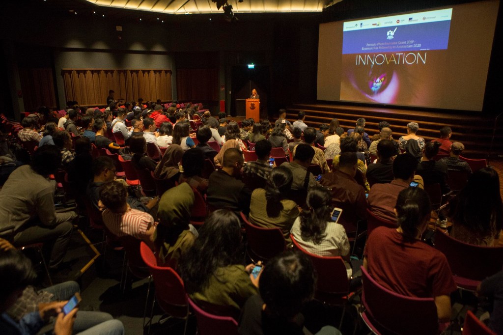
[[[450,235],[466,243],[492,246],[501,232],[502,208],[497,172],[490,167],[475,171],[449,202]]]

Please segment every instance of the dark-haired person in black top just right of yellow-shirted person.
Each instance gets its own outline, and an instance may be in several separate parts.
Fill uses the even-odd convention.
[[[386,128],[384,128],[386,129]],[[372,142],[377,144],[377,162],[367,167],[367,182],[370,187],[374,184],[391,183],[393,180],[393,156],[396,155],[396,147],[389,139]]]

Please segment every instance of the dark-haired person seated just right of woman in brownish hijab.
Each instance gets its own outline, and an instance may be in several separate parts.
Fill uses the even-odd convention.
[[[180,176],[180,183],[186,182],[199,192],[206,193],[208,180],[201,177],[204,168],[203,151],[197,147],[185,151],[182,157],[182,166],[183,172]]]

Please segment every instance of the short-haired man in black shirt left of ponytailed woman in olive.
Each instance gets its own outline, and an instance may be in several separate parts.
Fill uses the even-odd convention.
[[[208,206],[214,209],[227,208],[239,214],[248,214],[251,191],[238,180],[243,167],[243,155],[238,149],[229,148],[223,155],[223,166],[210,175],[208,182]]]

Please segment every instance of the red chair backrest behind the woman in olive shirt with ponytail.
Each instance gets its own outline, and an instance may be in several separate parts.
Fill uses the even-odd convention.
[[[248,222],[241,213],[246,230],[247,252],[252,260],[267,261],[286,249],[283,233],[279,228],[262,228]]]

